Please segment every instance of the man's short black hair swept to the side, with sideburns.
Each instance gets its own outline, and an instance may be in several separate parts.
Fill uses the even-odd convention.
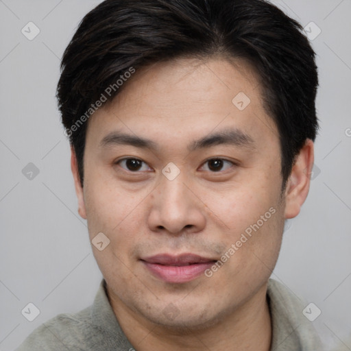
[[[95,101],[111,101],[123,88],[118,81],[149,64],[214,56],[243,59],[258,73],[285,185],[318,130],[315,52],[300,23],[264,0],[106,0],[84,16],[64,51],[57,89],[82,186],[85,122]]]

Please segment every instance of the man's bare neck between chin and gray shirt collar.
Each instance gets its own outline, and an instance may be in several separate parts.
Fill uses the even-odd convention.
[[[242,306],[209,326],[180,330],[154,324],[125,306],[108,289],[114,314],[125,336],[138,351],[269,351],[271,317],[266,292],[267,285],[264,285]]]

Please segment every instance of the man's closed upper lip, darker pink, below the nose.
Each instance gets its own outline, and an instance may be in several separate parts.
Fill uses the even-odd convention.
[[[158,254],[142,258],[141,261],[167,266],[184,266],[193,265],[195,263],[209,263],[216,261],[213,258],[205,258],[196,254],[180,254],[172,256],[170,254]]]

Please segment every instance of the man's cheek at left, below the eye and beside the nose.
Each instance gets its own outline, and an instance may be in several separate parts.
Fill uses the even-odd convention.
[[[149,191],[144,189],[131,194],[114,182],[104,183],[98,178],[87,182],[85,191],[90,241],[99,232],[110,240],[104,256],[93,247],[97,262],[101,267],[109,266],[112,262],[119,266],[116,256],[127,262],[135,243],[145,234],[145,198]]]

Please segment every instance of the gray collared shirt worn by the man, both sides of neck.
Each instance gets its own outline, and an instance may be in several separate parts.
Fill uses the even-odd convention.
[[[304,306],[293,293],[269,279],[267,299],[273,326],[271,351],[322,351],[312,323],[302,314]],[[114,315],[104,280],[92,306],[50,319],[34,330],[16,351],[44,350],[134,350]]]

